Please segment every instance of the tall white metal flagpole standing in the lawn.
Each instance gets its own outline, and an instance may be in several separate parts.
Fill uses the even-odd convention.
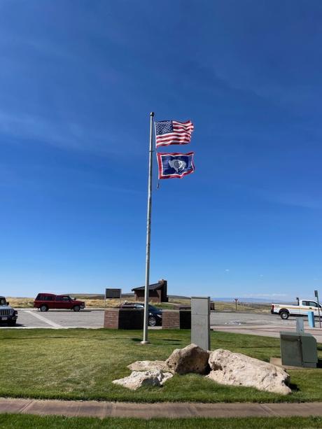
[[[148,214],[146,220],[146,286],[144,289],[144,326],[143,341],[141,344],[148,344],[148,294],[150,283],[150,244],[151,244],[151,206],[152,206],[152,154],[153,154],[153,116],[150,113],[150,148],[148,157]]]

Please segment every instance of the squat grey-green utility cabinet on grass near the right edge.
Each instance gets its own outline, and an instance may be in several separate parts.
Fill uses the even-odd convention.
[[[279,332],[279,335],[282,365],[316,368],[318,350],[313,335],[299,332]]]

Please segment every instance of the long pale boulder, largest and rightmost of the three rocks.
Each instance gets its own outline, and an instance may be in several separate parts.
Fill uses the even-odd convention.
[[[288,395],[291,390],[289,376],[282,368],[262,360],[249,358],[241,353],[218,349],[209,356],[209,379],[219,384],[255,387],[260,391]]]

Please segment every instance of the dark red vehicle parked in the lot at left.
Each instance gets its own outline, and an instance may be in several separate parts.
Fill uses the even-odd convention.
[[[36,300],[34,300],[34,307],[40,311],[48,311],[49,309],[80,311],[80,309],[85,309],[85,302],[71,298],[69,295],[38,293]]]

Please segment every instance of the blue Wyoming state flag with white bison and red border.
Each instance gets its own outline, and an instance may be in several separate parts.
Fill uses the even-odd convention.
[[[183,178],[195,171],[194,152],[157,153],[159,178]]]

